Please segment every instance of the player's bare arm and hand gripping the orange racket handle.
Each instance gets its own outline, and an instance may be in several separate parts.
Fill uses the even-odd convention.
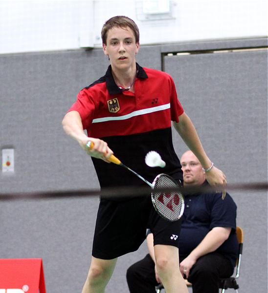
[[[73,139],[75,139],[79,145],[87,151],[87,153],[95,158],[102,159],[105,162],[110,163],[106,158],[109,158],[112,155],[112,150],[108,147],[107,143],[103,140],[88,137],[82,125],[82,120],[77,111],[68,112],[62,121],[62,126],[64,131]],[[89,150],[86,147],[88,141],[92,141],[94,146],[92,150]]]

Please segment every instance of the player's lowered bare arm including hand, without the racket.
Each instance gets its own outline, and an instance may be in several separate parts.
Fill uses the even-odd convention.
[[[212,162],[206,155],[196,128],[186,113],[181,114],[179,116],[179,123],[174,122],[173,125],[185,144],[199,159],[202,167],[205,169],[209,168]],[[226,177],[224,173],[216,167],[213,167],[209,172],[206,172],[206,179],[210,185],[226,185]]]

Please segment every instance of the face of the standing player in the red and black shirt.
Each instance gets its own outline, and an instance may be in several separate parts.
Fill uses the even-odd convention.
[[[135,55],[139,43],[135,42],[133,31],[127,27],[113,27],[107,33],[107,44],[103,44],[103,51],[108,55],[113,69],[126,70],[135,66]]]

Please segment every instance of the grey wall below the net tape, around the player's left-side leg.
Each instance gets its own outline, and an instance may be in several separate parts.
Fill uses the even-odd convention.
[[[98,198],[0,202],[0,258],[42,258],[46,292],[79,293],[89,270]],[[147,253],[118,259],[107,292],[126,293],[127,268]]]

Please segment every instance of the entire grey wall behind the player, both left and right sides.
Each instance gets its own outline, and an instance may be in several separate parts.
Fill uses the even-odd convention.
[[[264,39],[187,42],[140,48],[137,62],[161,69],[161,53],[265,45]],[[267,43],[267,39],[266,39]],[[184,50],[183,49],[183,50]],[[179,99],[208,155],[228,182],[267,179],[267,55],[264,52],[166,57]],[[1,192],[98,188],[90,158],[61,121],[78,91],[102,76],[101,49],[0,56],[0,148],[15,148],[15,174]],[[254,102],[254,105],[252,106]],[[174,133],[179,156],[186,146]],[[245,230],[241,289],[267,289],[267,194],[232,192]],[[49,293],[80,292],[89,268],[98,197],[0,201],[0,257],[42,257]],[[128,292],[126,269],[147,252],[121,257],[108,292]],[[256,275],[255,275],[256,272]],[[251,285],[253,284],[253,285]],[[255,284],[255,287],[253,287]]]

